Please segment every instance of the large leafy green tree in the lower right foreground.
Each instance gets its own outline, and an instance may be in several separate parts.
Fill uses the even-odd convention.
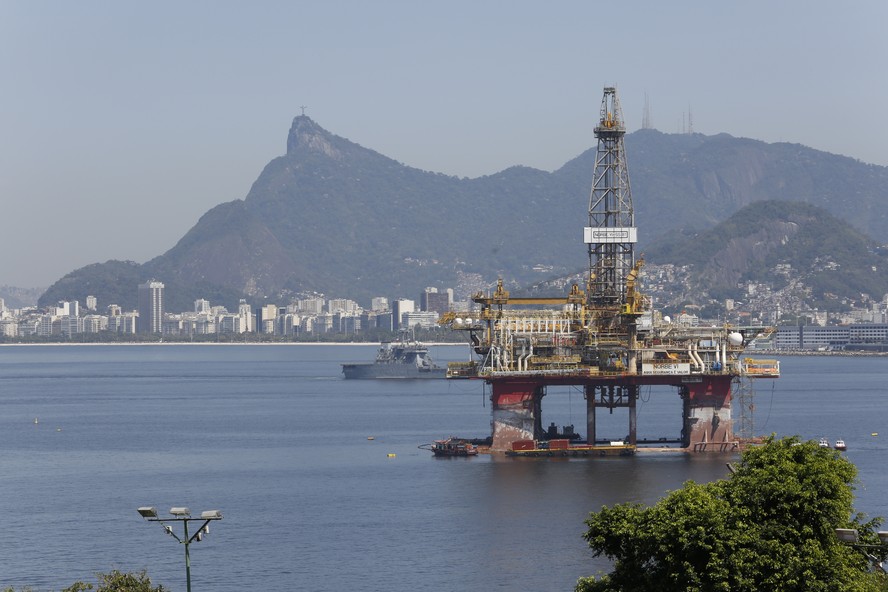
[[[584,538],[614,562],[577,592],[868,591],[885,589],[864,550],[836,528],[873,537],[879,519],[855,514],[856,467],[798,437],[746,450],[728,478],[687,482],[657,504],[619,504],[590,514]]]

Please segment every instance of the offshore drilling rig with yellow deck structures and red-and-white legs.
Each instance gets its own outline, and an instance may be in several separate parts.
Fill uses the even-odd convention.
[[[635,256],[637,228],[617,91],[604,89],[595,127],[585,286],[559,298],[513,298],[500,280],[492,293],[472,297],[471,313],[447,313],[440,323],[465,331],[476,361],[451,363],[449,378],[475,378],[491,387],[492,451],[514,455],[633,453],[636,402],[644,385],[678,389],[680,444],[694,451],[740,445],[731,414],[732,386],[747,378],[777,378],[776,360],[744,357],[764,328],[689,327],[652,309],[638,289],[644,259]],[[546,387],[581,387],[586,400],[586,444],[546,441],[542,399]],[[740,390],[740,389],[735,389]],[[628,408],[628,441],[596,439],[596,411]],[[744,409],[744,411],[746,411]]]

